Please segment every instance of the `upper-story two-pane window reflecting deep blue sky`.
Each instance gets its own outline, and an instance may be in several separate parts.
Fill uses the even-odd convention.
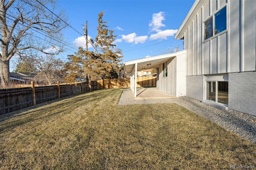
[[[226,6],[204,22],[204,40],[227,29]],[[213,31],[214,30],[214,31]]]

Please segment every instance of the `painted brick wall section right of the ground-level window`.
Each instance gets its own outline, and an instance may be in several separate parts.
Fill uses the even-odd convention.
[[[256,71],[228,74],[228,108],[256,116]]]

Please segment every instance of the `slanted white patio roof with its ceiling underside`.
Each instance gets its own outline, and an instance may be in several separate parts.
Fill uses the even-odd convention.
[[[142,59],[136,59],[132,61],[126,61],[124,62],[124,71],[126,73],[131,73],[133,68],[135,67],[135,64],[137,63],[137,70],[143,70],[144,69],[152,69],[152,68],[158,68],[159,64],[164,63],[168,59],[171,59],[173,57],[176,57],[176,55],[180,55],[182,53],[185,53],[185,50],[178,51],[176,53],[170,53],[170,54],[164,54],[164,55],[157,55],[154,57],[146,57]],[[150,65],[148,65],[150,64]]]

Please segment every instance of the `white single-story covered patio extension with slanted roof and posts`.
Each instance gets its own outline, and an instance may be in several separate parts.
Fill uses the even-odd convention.
[[[137,96],[137,71],[151,68],[157,70],[156,86],[159,91],[176,97],[186,95],[186,50],[126,61],[124,70],[131,73],[130,82],[134,97]]]

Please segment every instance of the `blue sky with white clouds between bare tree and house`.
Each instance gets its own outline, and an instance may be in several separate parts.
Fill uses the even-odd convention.
[[[76,47],[85,48],[85,38],[80,34],[86,21],[88,37],[95,39],[101,11],[105,11],[103,20],[117,36],[115,44],[122,49],[122,62],[160,55],[178,44],[183,48],[182,40],[174,40],[174,35],[193,4],[194,0],[60,0],[58,8],[66,11],[72,26],[66,28],[64,38],[75,47],[66,46],[58,57],[65,60],[78,51]],[[88,50],[94,51],[90,43]]]

